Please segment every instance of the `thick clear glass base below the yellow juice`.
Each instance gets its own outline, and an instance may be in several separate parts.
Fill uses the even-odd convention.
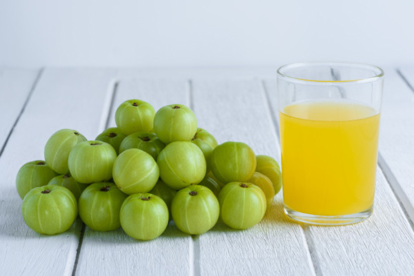
[[[306,213],[300,213],[284,206],[284,213],[291,219],[302,221],[306,224],[317,224],[324,226],[337,226],[344,224],[355,224],[356,222],[363,221],[373,214],[374,206],[364,210],[360,213],[352,215],[340,215],[340,216],[321,216],[310,215]]]

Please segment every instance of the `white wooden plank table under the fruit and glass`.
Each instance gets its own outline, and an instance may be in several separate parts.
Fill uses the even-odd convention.
[[[248,230],[218,224],[190,236],[174,224],[139,242],[78,219],[61,235],[34,233],[14,179],[61,128],[88,139],[126,99],[184,103],[217,141],[244,141],[280,159],[276,68],[0,69],[0,275],[414,275],[414,66],[385,68],[375,210],[359,224],[296,224],[282,193]]]

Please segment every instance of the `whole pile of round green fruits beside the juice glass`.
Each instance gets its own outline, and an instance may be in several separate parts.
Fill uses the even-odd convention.
[[[93,141],[77,130],[55,132],[45,161],[23,165],[17,192],[32,230],[54,235],[81,217],[92,230],[122,227],[135,239],[159,237],[172,219],[199,235],[224,224],[257,224],[281,188],[277,161],[244,143],[217,145],[190,108],[145,101],[121,103],[117,128]]]

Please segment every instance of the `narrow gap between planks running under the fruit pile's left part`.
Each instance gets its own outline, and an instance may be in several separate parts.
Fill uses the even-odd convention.
[[[117,95],[118,86],[119,86],[119,80],[117,79],[112,80],[108,86],[108,91],[106,92],[105,108],[103,109],[103,112],[101,115],[101,126],[100,126],[101,132],[103,130],[106,130],[106,128],[108,128],[109,126],[110,115],[114,108],[113,103],[114,103],[115,96]],[[75,263],[73,264],[73,268],[72,268],[72,276],[75,276],[77,272],[77,264],[79,262],[79,256],[81,255],[83,236],[85,235],[85,229],[86,229],[86,225],[82,221],[82,229],[81,229],[81,234],[79,235],[79,244],[76,250]]]

